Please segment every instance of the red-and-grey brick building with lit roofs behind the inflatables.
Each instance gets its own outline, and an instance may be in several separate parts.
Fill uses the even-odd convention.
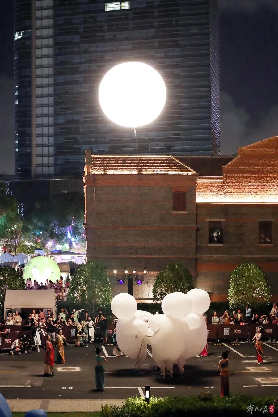
[[[114,294],[133,275],[144,279],[133,279],[135,298],[151,299],[158,271],[176,261],[225,301],[230,273],[252,261],[278,295],[278,136],[236,157],[87,151],[84,182],[87,258],[108,269]]]

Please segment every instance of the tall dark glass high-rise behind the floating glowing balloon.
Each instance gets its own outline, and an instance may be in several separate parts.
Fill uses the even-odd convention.
[[[219,154],[217,0],[14,0],[18,179],[75,177],[84,151]],[[147,126],[112,123],[98,87],[118,63],[162,75],[165,108]],[[124,80],[118,80],[119,83]]]

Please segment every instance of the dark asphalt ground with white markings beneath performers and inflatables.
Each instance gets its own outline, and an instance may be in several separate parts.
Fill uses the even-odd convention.
[[[115,400],[121,402],[135,394],[143,395],[145,385],[151,387],[151,395],[161,397],[165,395],[197,396],[205,391],[219,395],[220,379],[217,367],[223,350],[230,350],[230,394],[269,396],[272,392],[273,395],[277,392],[278,371],[275,365],[278,363],[278,345],[275,344],[263,345],[264,363],[261,365],[255,364],[254,344],[222,344],[220,346],[208,344],[208,357],[197,356],[188,359],[182,377],[178,375],[178,369],[176,369],[172,378],[166,377],[165,379],[162,379],[155,371],[151,351],[145,358],[140,374],[133,375],[134,361],[125,356],[112,357],[113,347],[107,346],[103,349],[103,354],[108,359],[105,367],[106,388],[104,392],[94,390],[94,347],[95,345],[89,345],[88,348],[74,345],[65,347],[66,363],[55,365],[53,378],[43,376],[45,355],[43,349],[40,353],[31,352],[28,355],[23,353],[12,356],[1,353],[0,392],[6,399],[36,399],[36,404],[32,402],[33,408],[46,400],[44,404],[45,408],[48,404],[48,411],[57,409],[58,403],[55,400],[58,399],[109,399],[108,402]],[[56,352],[55,350],[55,355]],[[63,404],[64,407],[67,402]],[[81,401],[80,404],[83,402]],[[92,402],[92,404],[98,405],[90,409],[98,411],[100,402]],[[10,405],[14,407],[12,403]],[[87,407],[83,411],[86,410]]]

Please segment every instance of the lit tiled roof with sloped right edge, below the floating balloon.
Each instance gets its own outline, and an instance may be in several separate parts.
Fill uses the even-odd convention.
[[[90,173],[193,175],[195,171],[167,155],[92,155]]]

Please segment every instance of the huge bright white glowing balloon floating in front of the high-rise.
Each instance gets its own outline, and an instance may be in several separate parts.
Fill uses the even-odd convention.
[[[106,73],[98,92],[100,106],[114,123],[137,128],[155,120],[166,101],[161,75],[150,65],[127,62]]]

